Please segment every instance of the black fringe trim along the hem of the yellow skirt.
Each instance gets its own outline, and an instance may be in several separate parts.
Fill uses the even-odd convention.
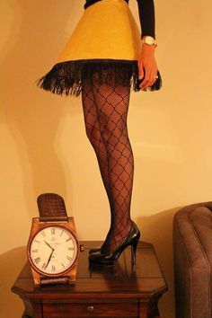
[[[82,92],[84,80],[97,81],[98,84],[110,84],[113,87],[123,85],[132,88],[135,92],[140,91],[138,79],[137,61],[113,60],[113,59],[81,59],[57,63],[52,69],[41,77],[37,85],[51,93],[59,95],[75,95]],[[157,91],[162,87],[160,72],[157,72],[155,83],[146,91]]]

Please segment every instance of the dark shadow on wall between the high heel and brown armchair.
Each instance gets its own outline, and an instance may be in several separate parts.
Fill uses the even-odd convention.
[[[161,211],[152,216],[137,219],[141,229],[141,240],[153,243],[155,252],[168,285],[168,291],[158,303],[163,318],[174,318],[174,281],[172,257],[172,220],[181,207]]]

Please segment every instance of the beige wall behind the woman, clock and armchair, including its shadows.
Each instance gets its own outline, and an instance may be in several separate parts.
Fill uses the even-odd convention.
[[[81,100],[35,86],[54,64],[83,4],[0,3],[1,318],[22,314],[21,299],[10,287],[26,261],[31,217],[38,216],[41,192],[65,198],[80,239],[100,240],[108,230],[109,204],[85,136]],[[130,0],[130,8],[139,23],[137,2]],[[172,217],[184,205],[212,199],[212,3],[205,0],[203,7],[199,1],[160,0],[155,9],[163,90],[130,97],[128,133],[135,157],[131,214],[142,239],[155,244],[169,285],[160,310],[163,318],[172,318]]]

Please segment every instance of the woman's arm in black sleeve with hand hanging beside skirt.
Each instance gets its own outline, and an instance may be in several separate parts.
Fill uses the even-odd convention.
[[[141,40],[146,36],[155,39],[155,4],[154,0],[137,0],[138,13],[141,24]],[[155,45],[142,43],[142,49],[138,58],[139,79],[145,78],[140,84],[142,90],[155,83],[157,66],[155,61]]]

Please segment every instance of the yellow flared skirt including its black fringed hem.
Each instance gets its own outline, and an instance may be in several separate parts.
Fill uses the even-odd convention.
[[[88,6],[55,66],[38,81],[46,91],[79,96],[84,80],[129,85],[140,91],[137,60],[141,31],[124,0],[101,0]]]

